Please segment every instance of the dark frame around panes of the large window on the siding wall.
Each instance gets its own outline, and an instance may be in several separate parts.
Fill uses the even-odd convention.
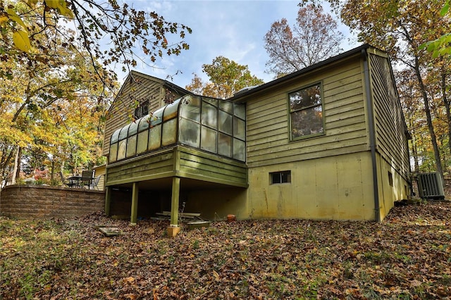
[[[310,87],[314,87],[314,86],[319,86],[319,94],[321,96],[321,105],[320,104],[316,104],[316,105],[311,105],[311,106],[305,106],[303,108],[297,109],[295,111],[291,111],[291,105],[290,105],[290,94],[295,93],[295,92],[299,92],[302,91],[303,89],[309,89]],[[293,137],[292,135],[292,113],[296,113],[298,111],[306,111],[308,109],[314,108],[314,107],[319,107],[321,106],[321,122],[323,125],[323,132],[318,132],[318,133],[313,133],[310,135],[303,135],[301,137]],[[302,139],[311,139],[312,137],[319,137],[319,136],[323,136],[326,135],[326,121],[325,121],[325,117],[324,117],[324,92],[323,92],[323,81],[318,81],[318,82],[313,82],[310,83],[309,85],[303,85],[302,87],[299,87],[297,89],[293,89],[291,91],[289,91],[287,93],[287,111],[288,111],[288,137],[289,137],[289,141],[290,142],[297,142],[299,140]]]

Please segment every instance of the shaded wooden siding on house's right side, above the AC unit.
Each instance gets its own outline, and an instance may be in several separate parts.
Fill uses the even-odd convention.
[[[407,128],[391,74],[388,58],[371,54],[371,83],[374,99],[378,152],[402,175],[409,174]]]

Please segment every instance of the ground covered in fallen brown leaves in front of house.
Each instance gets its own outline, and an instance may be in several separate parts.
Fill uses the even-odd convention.
[[[105,237],[98,225],[120,227]],[[451,299],[451,203],[382,224],[0,218],[0,299]]]

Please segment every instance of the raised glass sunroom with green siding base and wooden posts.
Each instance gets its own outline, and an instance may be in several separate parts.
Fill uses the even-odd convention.
[[[106,207],[115,191],[171,190],[171,226],[178,225],[180,189],[247,187],[244,104],[187,95],[111,135]]]

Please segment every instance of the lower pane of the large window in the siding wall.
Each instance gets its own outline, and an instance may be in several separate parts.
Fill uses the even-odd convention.
[[[307,108],[290,114],[292,138],[324,132],[321,106]]]

